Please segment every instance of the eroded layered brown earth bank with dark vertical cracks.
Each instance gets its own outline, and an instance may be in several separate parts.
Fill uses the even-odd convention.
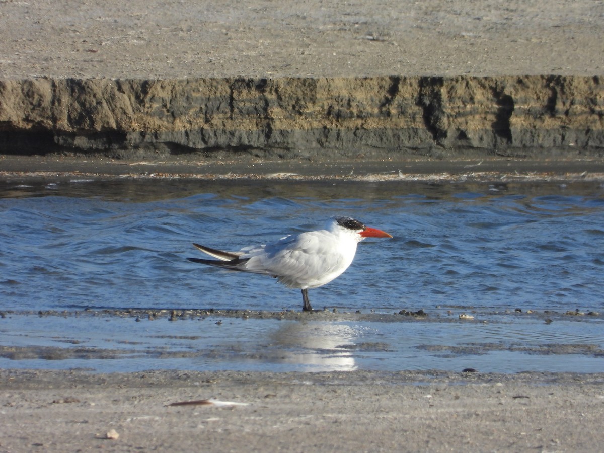
[[[600,77],[0,81],[0,153],[600,156]]]

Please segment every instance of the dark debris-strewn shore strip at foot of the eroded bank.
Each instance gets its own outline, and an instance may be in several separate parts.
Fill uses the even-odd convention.
[[[548,182],[602,181],[603,158],[260,159],[202,155],[149,159],[105,156],[0,155],[4,181],[74,179],[205,179],[208,181]]]

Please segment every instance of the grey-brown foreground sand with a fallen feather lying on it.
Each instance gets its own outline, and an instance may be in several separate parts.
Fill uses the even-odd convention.
[[[0,450],[10,452],[586,452],[604,442],[602,374],[2,370],[0,379]],[[170,406],[208,398],[248,405]]]

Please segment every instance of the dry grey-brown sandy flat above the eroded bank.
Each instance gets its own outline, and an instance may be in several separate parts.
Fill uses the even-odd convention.
[[[603,5],[590,0],[184,0],[168,9],[156,0],[59,0],[0,7],[0,79],[603,71]]]

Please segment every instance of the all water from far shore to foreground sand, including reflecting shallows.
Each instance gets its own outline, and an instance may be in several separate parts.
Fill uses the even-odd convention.
[[[604,371],[603,316],[565,315],[604,311],[599,182],[14,180],[0,196],[3,367]],[[216,324],[27,314],[298,310],[300,292],[271,278],[188,262],[201,256],[191,242],[237,250],[334,215],[394,238],[359,244],[347,272],[309,291],[313,306],[423,309],[428,318]]]

